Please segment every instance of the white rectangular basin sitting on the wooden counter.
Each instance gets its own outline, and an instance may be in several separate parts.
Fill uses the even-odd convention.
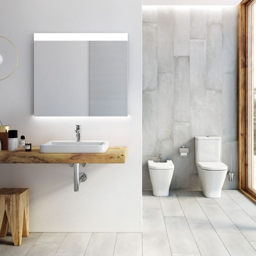
[[[41,153],[105,153],[109,148],[106,140],[52,140],[40,145]]]

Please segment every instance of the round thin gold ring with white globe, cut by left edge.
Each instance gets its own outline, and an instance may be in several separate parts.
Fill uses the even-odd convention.
[[[6,37],[0,35],[0,81],[11,76],[18,65],[18,51]]]

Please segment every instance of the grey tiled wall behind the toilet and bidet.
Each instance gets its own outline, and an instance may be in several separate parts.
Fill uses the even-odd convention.
[[[147,160],[174,162],[171,188],[199,189],[195,136],[221,136],[238,187],[238,7],[143,6],[143,189]],[[189,148],[188,157],[178,149]]]

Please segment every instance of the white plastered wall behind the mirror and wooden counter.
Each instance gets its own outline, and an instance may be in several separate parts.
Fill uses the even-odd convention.
[[[18,49],[14,74],[0,82],[0,120],[32,146],[49,140],[109,140],[127,146],[125,164],[89,164],[73,191],[67,164],[0,164],[0,187],[30,188],[30,231],[141,231],[141,1],[0,1],[0,35]],[[128,117],[34,117],[33,33],[128,33]]]

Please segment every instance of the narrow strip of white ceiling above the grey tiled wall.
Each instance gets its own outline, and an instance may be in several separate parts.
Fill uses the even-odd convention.
[[[238,5],[242,0],[142,0],[142,5]]]

